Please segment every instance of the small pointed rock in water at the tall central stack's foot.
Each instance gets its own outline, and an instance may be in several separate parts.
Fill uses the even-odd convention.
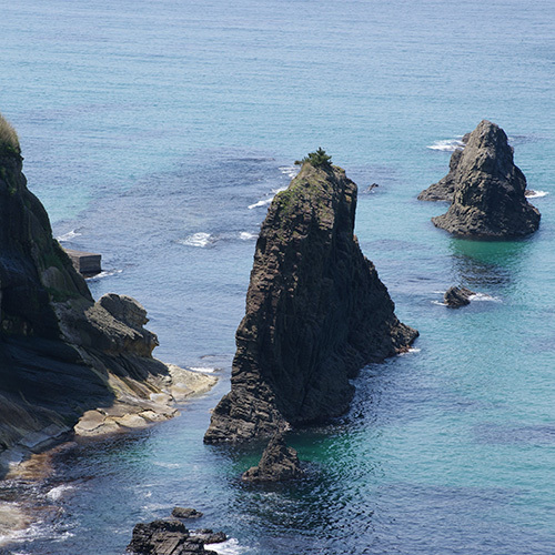
[[[296,451],[285,445],[282,433],[275,434],[268,444],[258,466],[243,474],[245,482],[283,482],[304,475]]]

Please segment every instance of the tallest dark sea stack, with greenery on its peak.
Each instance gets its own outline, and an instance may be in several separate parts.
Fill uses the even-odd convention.
[[[344,413],[349,380],[416,337],[359,248],[355,208],[356,185],[344,171],[310,162],[273,200],[236,332],[231,392],[212,414],[206,443],[269,437]]]

